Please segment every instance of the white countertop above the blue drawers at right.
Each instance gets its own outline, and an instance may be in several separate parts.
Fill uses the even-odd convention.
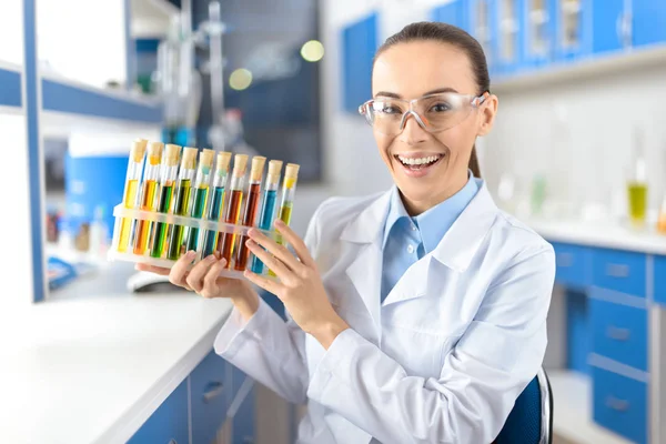
[[[613,223],[528,219],[528,226],[551,242],[629,250],[666,255],[666,235],[637,231]]]

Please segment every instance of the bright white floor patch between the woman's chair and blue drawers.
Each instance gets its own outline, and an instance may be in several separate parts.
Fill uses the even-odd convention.
[[[589,379],[568,371],[548,371],[553,389],[553,432],[575,444],[630,444],[592,421]]]

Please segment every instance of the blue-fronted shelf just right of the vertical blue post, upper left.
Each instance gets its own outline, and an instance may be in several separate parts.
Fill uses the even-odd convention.
[[[158,100],[53,75],[42,77],[42,107],[44,111],[155,125],[162,121],[162,108]]]

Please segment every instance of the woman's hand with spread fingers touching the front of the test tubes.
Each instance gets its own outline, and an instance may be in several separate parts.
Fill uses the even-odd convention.
[[[321,276],[305,243],[282,221],[275,221],[275,228],[293,246],[297,259],[285,246],[279,245],[259,230],[250,230],[248,248],[280,278],[280,282],[260,276],[249,270],[245,271],[245,276],[280,297],[294,322],[304,332],[312,334],[324,349],[329,349],[335,337],[349,329],[349,325],[335,313],[329,302]]]

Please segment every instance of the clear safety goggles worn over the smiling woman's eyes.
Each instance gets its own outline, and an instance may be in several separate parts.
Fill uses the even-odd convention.
[[[463,122],[487,97],[488,92],[482,95],[441,92],[413,100],[377,97],[359,107],[359,113],[384,135],[400,134],[408,115],[413,115],[425,131],[435,133]]]

